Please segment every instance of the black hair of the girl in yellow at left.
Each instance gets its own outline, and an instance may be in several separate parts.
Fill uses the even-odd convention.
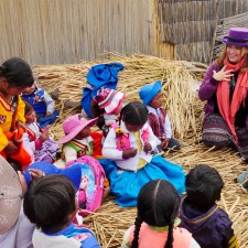
[[[0,66],[0,77],[4,77],[10,87],[31,87],[34,83],[30,65],[20,57],[7,60]]]

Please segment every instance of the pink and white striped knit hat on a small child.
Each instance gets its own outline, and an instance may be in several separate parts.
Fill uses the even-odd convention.
[[[96,98],[99,108],[104,108],[108,115],[111,115],[120,106],[125,94],[111,88],[101,88]]]

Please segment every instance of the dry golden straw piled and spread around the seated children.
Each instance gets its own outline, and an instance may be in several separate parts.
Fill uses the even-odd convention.
[[[109,54],[108,54],[109,55]],[[67,108],[65,103],[78,101],[82,89],[86,86],[86,75],[91,65],[98,63],[120,62],[125,71],[119,73],[118,89],[127,94],[128,100],[138,100],[139,88],[157,79],[163,80],[163,94],[176,138],[182,143],[182,150],[168,152],[165,158],[182,164],[187,172],[196,164],[206,163],[218,170],[225,181],[225,187],[219,206],[222,206],[234,223],[240,248],[248,247],[248,201],[247,194],[234,179],[247,170],[247,165],[231,149],[214,151],[201,143],[201,127],[203,106],[197,95],[192,91],[195,79],[203,76],[204,65],[188,62],[172,62],[144,55],[122,56],[110,54],[108,60],[82,62],[78,65],[36,66],[34,73],[42,87],[48,91],[60,89],[57,108],[61,110],[58,121],[52,127],[55,139],[63,136],[62,121],[69,115],[80,111],[79,107]],[[168,94],[170,93],[170,94]],[[134,223],[136,208],[121,208],[112,197],[84,219],[84,223],[96,233],[104,248],[119,247],[123,231]]]

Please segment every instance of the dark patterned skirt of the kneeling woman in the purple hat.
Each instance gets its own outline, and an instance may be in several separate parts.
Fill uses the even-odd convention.
[[[203,123],[203,142],[207,147],[215,145],[217,149],[222,149],[231,144],[245,160],[248,160],[248,131],[245,127],[236,128],[236,133],[238,144],[226,121],[218,114],[208,116]]]

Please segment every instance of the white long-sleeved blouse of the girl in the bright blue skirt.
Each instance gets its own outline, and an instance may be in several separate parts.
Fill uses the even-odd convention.
[[[138,149],[137,142],[136,142],[136,138],[134,136],[129,132],[125,126],[125,123],[121,121],[121,127],[120,127],[125,133],[129,133],[129,139],[130,139],[130,145],[131,148],[136,148]],[[151,144],[152,150],[154,150],[157,148],[157,145],[160,143],[160,141],[158,140],[158,138],[153,134],[151,127],[149,126],[149,123],[145,123],[143,126],[143,128],[140,130],[140,133],[143,132],[144,129],[149,130],[149,139],[148,142]],[[142,145],[143,145],[143,141],[141,139]],[[145,160],[148,163],[152,160],[152,155],[150,152],[145,153],[143,150],[139,153],[137,153],[136,157],[123,160],[122,159],[122,151],[117,150],[117,145],[116,145],[116,131],[114,128],[111,128],[109,130],[108,136],[106,137],[106,140],[104,142],[104,147],[103,147],[103,155],[106,159],[111,159],[115,160],[117,165],[119,168],[122,168],[125,170],[130,170],[130,171],[137,171],[137,166],[139,164],[139,159],[143,159]]]

